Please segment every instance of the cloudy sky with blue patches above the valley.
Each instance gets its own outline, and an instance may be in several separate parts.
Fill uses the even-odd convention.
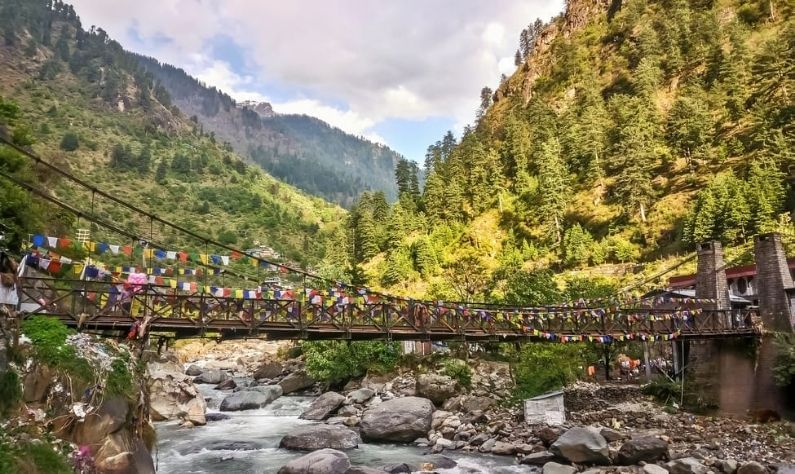
[[[84,28],[236,100],[318,117],[422,161],[514,72],[563,0],[72,0]]]

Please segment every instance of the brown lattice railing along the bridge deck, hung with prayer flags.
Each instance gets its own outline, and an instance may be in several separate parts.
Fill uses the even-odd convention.
[[[107,327],[146,318],[152,329],[271,332],[302,337],[486,338],[555,335],[714,335],[747,332],[746,315],[696,309],[500,310],[428,302],[310,304],[292,299],[236,298],[160,285],[26,277],[22,301],[29,314]],[[551,336],[551,337],[550,337]]]

